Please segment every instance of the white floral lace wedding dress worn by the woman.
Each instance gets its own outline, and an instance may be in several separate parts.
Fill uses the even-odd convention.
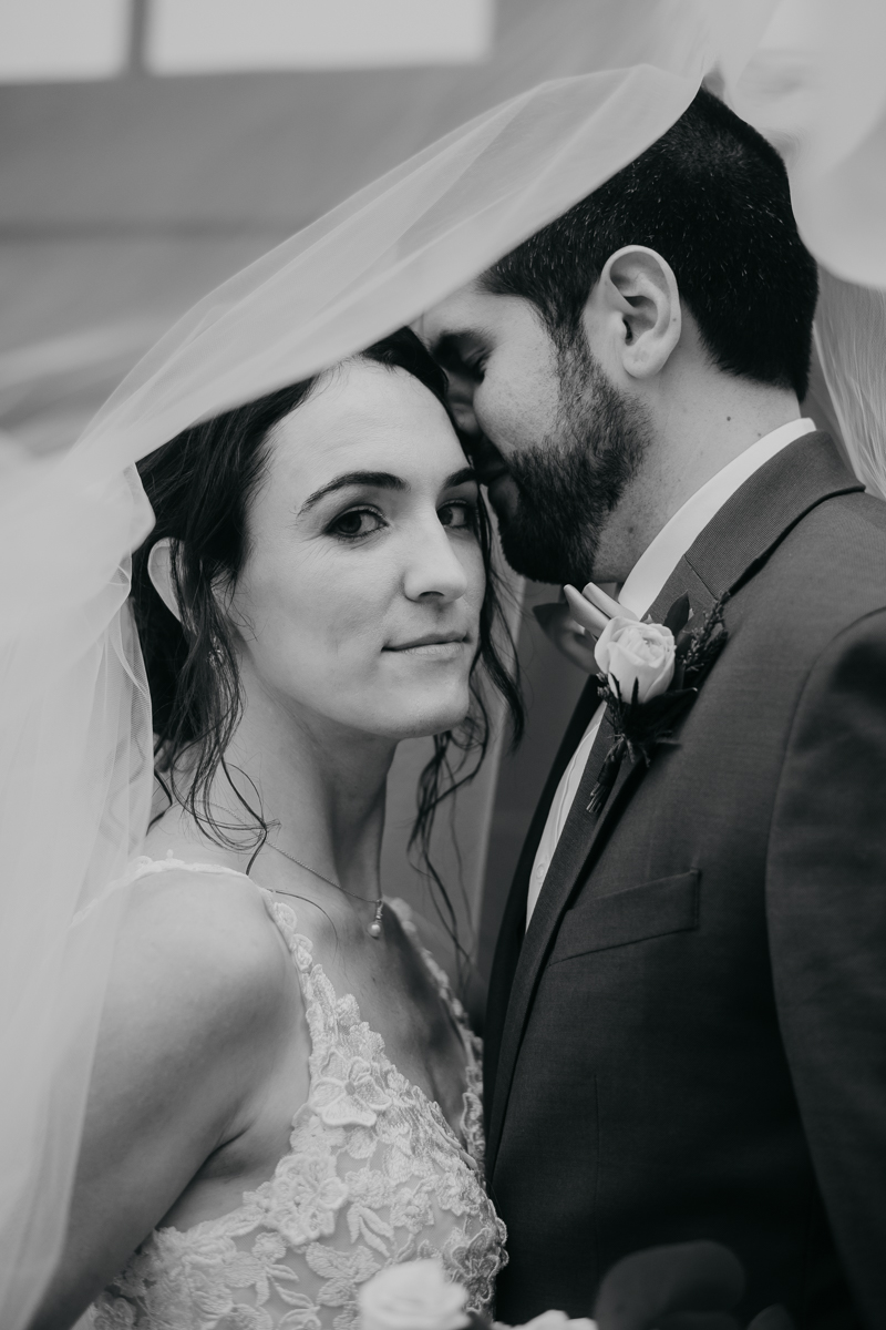
[[[234,871],[142,858],[130,880],[166,868]],[[429,1256],[465,1285],[472,1309],[489,1313],[506,1234],[482,1182],[480,1041],[446,976],[418,946],[408,907],[388,902],[464,1039],[461,1140],[385,1056],[355,998],[336,995],[295,911],[258,890],[298,971],[312,1043],[311,1089],[290,1150],[228,1214],[183,1232],[154,1229],[78,1330],[351,1330],[363,1281]]]

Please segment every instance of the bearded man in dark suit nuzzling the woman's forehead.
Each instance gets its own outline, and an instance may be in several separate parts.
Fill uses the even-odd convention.
[[[513,567],[725,632],[611,787],[591,678],[529,829],[486,1028],[506,1322],[713,1238],[745,1317],[886,1323],[886,504],[801,419],[816,295],[780,158],[699,93],[424,321]]]

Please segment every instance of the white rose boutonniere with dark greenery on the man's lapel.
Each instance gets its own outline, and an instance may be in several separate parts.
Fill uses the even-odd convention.
[[[594,649],[600,670],[596,694],[608,708],[615,734],[591,790],[588,813],[602,811],[624,754],[650,766],[656,746],[671,737],[677,717],[695,701],[727,644],[727,598],[715,602],[696,630],[689,628],[689,597],[680,596],[663,624],[616,616],[600,633]]]

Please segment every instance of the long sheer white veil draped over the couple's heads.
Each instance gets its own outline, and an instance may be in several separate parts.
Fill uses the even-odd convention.
[[[786,157],[826,270],[817,352],[858,473],[886,488],[882,0],[545,0],[506,100],[197,305],[77,444],[0,442],[0,1323],[61,1248],[126,866],[151,794],[126,608],[151,525],[134,463],[195,420],[402,323],[654,142],[703,80]],[[875,340],[873,340],[875,338]]]

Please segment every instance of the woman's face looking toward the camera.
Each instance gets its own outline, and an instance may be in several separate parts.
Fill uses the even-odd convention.
[[[437,399],[361,360],[270,439],[230,610],[247,708],[392,739],[461,721],[485,591],[477,484]],[[313,728],[313,725],[312,725]]]

